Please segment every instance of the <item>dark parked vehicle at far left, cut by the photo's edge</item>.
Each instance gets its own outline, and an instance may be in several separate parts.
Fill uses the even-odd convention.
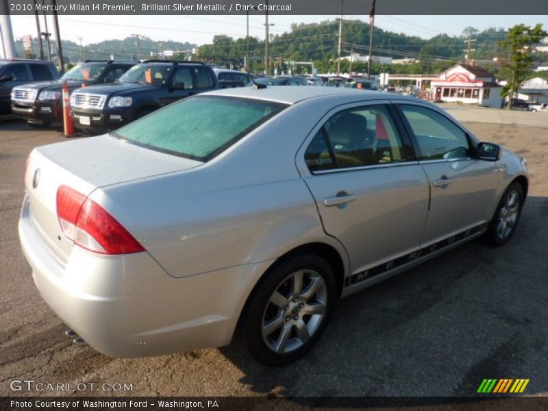
[[[11,112],[12,88],[23,84],[59,78],[57,68],[41,60],[0,60],[0,114]]]

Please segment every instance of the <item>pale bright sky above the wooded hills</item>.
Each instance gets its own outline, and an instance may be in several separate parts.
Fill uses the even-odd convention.
[[[269,16],[273,23],[271,34],[282,34],[290,31],[292,23],[318,23],[337,16]],[[40,23],[43,27],[43,16]],[[345,18],[360,18],[369,20],[369,16],[345,16]],[[153,40],[176,40],[197,43],[198,45],[212,41],[216,34],[226,34],[234,38],[245,37],[246,16],[59,16],[62,38],[82,44],[122,39],[131,34],[144,34]],[[462,34],[465,27],[475,27],[479,30],[488,27],[512,27],[518,23],[535,25],[543,23],[548,29],[548,16],[375,16],[375,26],[392,32],[405,33],[431,38],[440,33],[450,36]],[[25,34],[36,37],[34,16],[12,16],[14,36],[21,38]],[[53,32],[51,18],[48,18],[48,28]],[[249,34],[264,38],[264,18],[249,17]]]

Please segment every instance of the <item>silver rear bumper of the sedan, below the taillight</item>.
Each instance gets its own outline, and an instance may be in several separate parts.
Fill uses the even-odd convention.
[[[146,252],[100,256],[77,246],[63,263],[33,221],[25,197],[18,232],[40,295],[90,347],[108,356],[229,344],[247,295],[270,264],[174,278]]]

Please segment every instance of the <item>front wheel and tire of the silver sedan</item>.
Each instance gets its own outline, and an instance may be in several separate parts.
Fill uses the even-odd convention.
[[[512,200],[514,198],[514,200]],[[506,188],[499,205],[495,210],[493,219],[483,236],[483,239],[495,247],[506,244],[514,235],[523,208],[523,187],[518,182],[513,182]],[[518,201],[516,206],[512,206]]]

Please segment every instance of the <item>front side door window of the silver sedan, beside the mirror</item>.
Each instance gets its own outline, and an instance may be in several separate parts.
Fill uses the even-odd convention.
[[[443,114],[418,105],[399,107],[419,145],[421,160],[470,156],[471,147],[466,133]]]

